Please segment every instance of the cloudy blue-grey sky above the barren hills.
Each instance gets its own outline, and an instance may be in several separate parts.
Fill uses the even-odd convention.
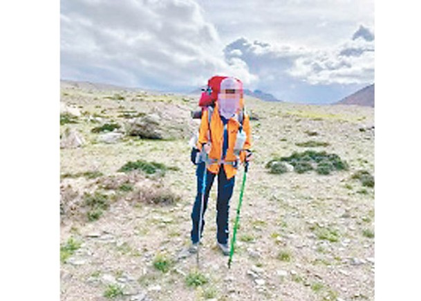
[[[288,102],[374,82],[374,0],[62,0],[61,77],[189,92],[212,75]]]

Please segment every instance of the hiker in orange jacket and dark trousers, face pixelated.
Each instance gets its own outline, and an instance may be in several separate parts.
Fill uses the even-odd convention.
[[[240,162],[244,163],[252,158],[250,118],[244,111],[243,102],[241,82],[234,77],[223,77],[214,107],[209,106],[202,112],[196,148],[202,158],[205,157],[205,162],[198,163],[196,170],[198,192],[191,212],[190,253],[197,252],[205,226],[203,217],[207,208],[209,191],[215,177],[218,176],[216,239],[223,254],[230,254],[228,216],[235,175]],[[205,182],[204,199],[202,198],[203,182]],[[203,203],[203,208],[201,208],[201,203]],[[202,211],[201,219],[200,211]],[[199,224],[201,224],[200,237]]]

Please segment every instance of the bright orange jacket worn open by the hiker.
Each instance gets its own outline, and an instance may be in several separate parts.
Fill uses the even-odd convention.
[[[202,114],[202,120],[200,122],[199,128],[199,138],[197,147],[201,151],[203,143],[209,142],[208,140],[208,131],[209,131],[209,122],[208,122],[208,113],[209,111],[206,110]],[[225,155],[225,161],[227,162],[235,162],[237,160],[236,155],[234,154],[234,146],[236,143],[236,135],[239,127],[241,126],[240,122],[238,122],[237,115],[233,116],[228,120],[227,123],[227,131],[228,131],[228,149],[227,154]],[[252,146],[252,131],[250,127],[250,118],[245,113],[244,120],[243,120],[243,131],[247,135],[245,139],[245,143],[243,149],[250,149]],[[221,120],[221,116],[219,115],[218,111],[218,104],[216,104],[214,108],[214,113],[212,113],[212,117],[210,120],[210,143],[212,145],[211,150],[209,152],[209,159],[210,161],[216,161],[215,163],[210,163],[207,165],[207,170],[212,172],[213,174],[218,174],[219,168],[221,167],[221,156],[222,156],[222,148],[223,148],[223,133],[224,127],[223,122]],[[241,162],[245,160],[245,152],[242,151],[240,153]],[[232,176],[236,175],[236,168],[230,164],[224,164],[225,174],[227,175],[227,179],[231,179]]]

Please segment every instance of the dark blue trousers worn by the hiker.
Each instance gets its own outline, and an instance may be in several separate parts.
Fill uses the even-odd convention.
[[[191,212],[191,221],[192,221],[192,228],[191,228],[191,241],[193,243],[198,242],[199,234],[199,216],[200,216],[200,205],[202,202],[202,190],[203,190],[203,172],[206,172],[206,189],[205,189],[205,200],[203,206],[203,215],[202,215],[202,228],[200,229],[200,237],[203,232],[203,228],[205,227],[205,211],[207,208],[207,199],[209,199],[209,192],[212,188],[212,184],[214,183],[214,179],[216,174],[212,174],[209,172],[206,167],[205,163],[200,163],[196,169],[196,177],[197,177],[197,193],[196,193],[196,200],[194,201],[193,210]],[[225,171],[223,169],[223,165],[219,169],[218,173],[218,197],[216,199],[216,239],[220,244],[227,244],[228,242],[228,217],[230,213],[230,199],[232,197],[232,192],[234,190],[234,182],[235,176],[231,179],[227,179]]]

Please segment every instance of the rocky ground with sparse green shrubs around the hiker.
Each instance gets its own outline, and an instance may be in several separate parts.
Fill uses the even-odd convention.
[[[373,108],[246,98],[259,118],[228,269],[216,247],[216,184],[200,266],[182,256],[197,101],[62,83],[61,299],[374,300]],[[242,178],[240,167],[231,231]]]

